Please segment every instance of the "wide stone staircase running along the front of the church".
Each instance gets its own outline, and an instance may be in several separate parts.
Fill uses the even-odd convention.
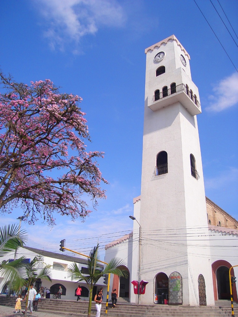
[[[0,296],[0,305],[15,307],[16,297]],[[24,304],[22,305],[24,307]],[[102,304],[101,316],[105,315],[106,304]],[[42,299],[38,303],[39,312],[49,312],[57,315],[71,315],[78,317],[86,317],[88,312],[88,301],[72,301],[72,300],[54,300]],[[238,305],[234,303],[234,314],[238,317]],[[92,302],[91,315],[96,315],[96,308]],[[137,306],[120,299],[116,308],[108,307],[108,316],[112,317],[230,317],[231,306],[230,301],[217,301],[215,306],[170,306],[170,305],[151,305]]]

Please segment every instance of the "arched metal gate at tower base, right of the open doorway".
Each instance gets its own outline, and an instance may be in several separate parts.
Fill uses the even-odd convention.
[[[182,305],[182,276],[178,272],[169,275],[169,305]]]

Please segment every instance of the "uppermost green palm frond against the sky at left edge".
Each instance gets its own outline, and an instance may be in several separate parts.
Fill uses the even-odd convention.
[[[8,252],[15,251],[18,247],[22,247],[27,240],[25,230],[18,233],[18,226],[4,226],[0,228],[0,257],[5,256]]]

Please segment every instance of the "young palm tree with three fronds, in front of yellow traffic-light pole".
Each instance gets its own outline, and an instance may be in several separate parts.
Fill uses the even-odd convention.
[[[68,271],[68,277],[71,277],[71,281],[77,280],[85,281],[89,287],[89,308],[88,308],[88,317],[91,316],[91,306],[92,306],[92,294],[93,294],[93,287],[96,282],[102,277],[104,274],[116,274],[118,276],[128,277],[128,271],[126,268],[123,268],[124,263],[119,258],[112,259],[102,271],[99,266],[99,255],[98,255],[98,248],[99,244],[94,247],[90,253],[88,258],[88,275],[83,275],[77,264],[74,262],[70,265]]]

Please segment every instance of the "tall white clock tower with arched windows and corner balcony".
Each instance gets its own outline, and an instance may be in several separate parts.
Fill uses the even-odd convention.
[[[196,118],[201,106],[190,57],[174,35],[145,53],[142,183],[134,216],[141,225],[141,279],[149,283],[140,301],[153,304],[157,294],[158,301],[198,306],[203,296],[214,305]],[[132,276],[137,273],[135,265]]]

